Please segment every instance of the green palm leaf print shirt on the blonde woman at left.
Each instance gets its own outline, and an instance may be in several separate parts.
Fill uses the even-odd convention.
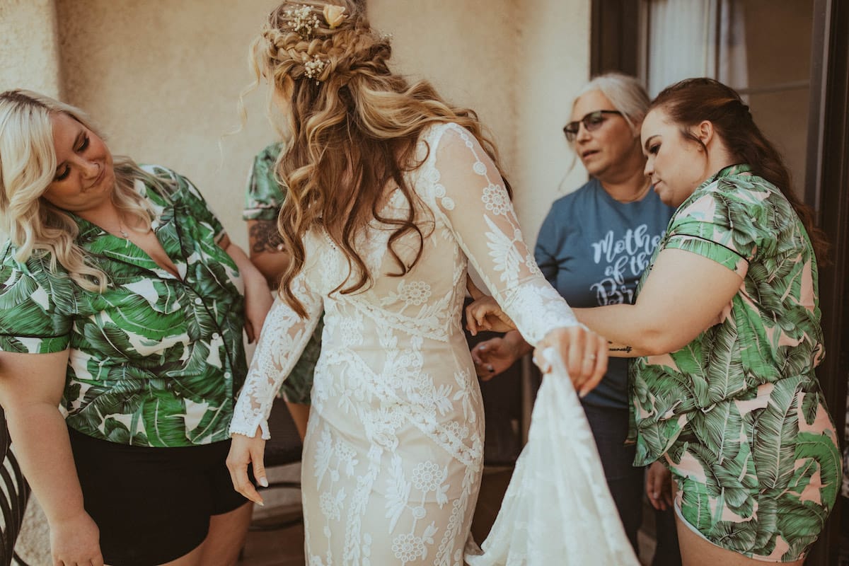
[[[228,439],[245,379],[239,271],[217,242],[221,222],[185,177],[144,168],[136,182],[156,238],[180,277],[135,244],[76,217],[77,244],[108,277],[103,294],[80,288],[48,255],[0,264],[0,350],[70,350],[68,425],[132,446],[193,446]]]

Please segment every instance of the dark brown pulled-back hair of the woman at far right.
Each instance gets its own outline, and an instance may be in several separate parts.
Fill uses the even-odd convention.
[[[792,179],[784,159],[752,120],[749,106],[733,88],[706,77],[685,79],[664,88],[649,105],[663,112],[681,127],[683,137],[705,144],[689,131],[702,120],[710,120],[737,163],[751,166],[751,171],[773,183],[790,201],[802,226],[811,238],[820,265],[828,265],[829,239],[814,223],[815,214],[792,189]]]

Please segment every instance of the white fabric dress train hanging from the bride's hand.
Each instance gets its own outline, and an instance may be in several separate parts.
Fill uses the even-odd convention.
[[[610,496],[593,434],[554,348],[501,511],[469,566],[638,566]]]

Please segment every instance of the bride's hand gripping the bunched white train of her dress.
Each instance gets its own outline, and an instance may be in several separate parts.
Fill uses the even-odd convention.
[[[579,325],[554,328],[537,344],[534,359],[543,362],[543,350],[550,346],[559,351],[578,395],[587,395],[604,378],[607,372],[607,340],[599,334]],[[541,369],[543,373],[551,371],[550,367]]]

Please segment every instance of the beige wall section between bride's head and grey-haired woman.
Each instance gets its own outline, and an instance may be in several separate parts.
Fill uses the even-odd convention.
[[[589,74],[588,0],[368,0],[392,33],[396,70],[426,78],[492,130],[526,239],[551,202],[586,180],[562,127]]]

